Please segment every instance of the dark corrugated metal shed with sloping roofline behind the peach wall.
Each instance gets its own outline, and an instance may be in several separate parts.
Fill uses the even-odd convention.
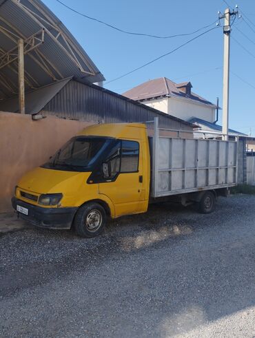
[[[19,97],[0,103],[2,112],[19,112]],[[57,116],[87,123],[146,122],[159,117],[159,126],[192,131],[195,125],[111,92],[80,78],[62,81],[26,93],[26,114]],[[190,134],[192,137],[192,134]]]

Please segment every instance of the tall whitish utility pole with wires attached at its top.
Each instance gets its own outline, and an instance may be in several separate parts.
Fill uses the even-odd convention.
[[[236,7],[237,8],[237,7]],[[222,132],[223,140],[228,140],[228,121],[229,121],[229,94],[230,94],[230,32],[232,15],[238,14],[238,11],[227,8],[223,15],[218,19],[224,19],[224,61],[223,61],[223,116],[222,116]]]

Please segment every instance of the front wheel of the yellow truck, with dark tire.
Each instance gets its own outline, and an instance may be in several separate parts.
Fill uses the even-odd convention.
[[[100,235],[105,224],[105,209],[96,202],[84,204],[79,208],[74,218],[74,229],[77,235],[85,238]]]

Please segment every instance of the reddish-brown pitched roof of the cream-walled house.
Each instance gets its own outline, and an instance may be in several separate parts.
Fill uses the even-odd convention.
[[[180,88],[187,85],[188,83],[190,82],[174,83],[169,78],[165,77],[155,78],[154,80],[147,81],[128,90],[128,92],[123,93],[123,96],[132,98],[135,101],[147,101],[152,98],[172,96],[186,98],[188,100],[203,103],[204,105],[209,105],[216,108],[216,105],[214,105],[212,102],[207,101],[205,98],[202,98],[193,92],[191,92],[189,95],[185,94]]]

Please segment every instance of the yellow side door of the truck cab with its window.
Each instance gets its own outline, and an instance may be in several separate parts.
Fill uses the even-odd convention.
[[[143,161],[141,144],[117,140],[103,165],[109,177],[99,183],[99,193],[112,200],[115,216],[143,212]]]

